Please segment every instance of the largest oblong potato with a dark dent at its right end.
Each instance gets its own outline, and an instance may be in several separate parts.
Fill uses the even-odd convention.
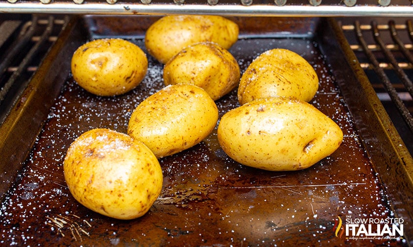
[[[339,148],[340,127],[299,99],[261,98],[225,113],[218,141],[240,164],[268,171],[308,168]]]

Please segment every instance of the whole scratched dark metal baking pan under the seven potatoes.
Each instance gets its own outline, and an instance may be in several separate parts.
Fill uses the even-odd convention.
[[[94,213],[71,196],[63,159],[92,128],[126,132],[133,109],[163,87],[163,66],[133,91],[97,97],[70,74],[74,49],[121,37],[145,49],[146,28],[159,17],[73,17],[1,126],[2,245],[18,246],[404,246],[412,234],[412,157],[388,120],[340,28],[326,18],[231,17],[241,28],[230,49],[243,72],[265,50],[291,49],[316,70],[310,103],[344,132],[340,148],[296,172],[267,172],[231,160],[216,130],[203,142],[164,157],[163,190],[149,212],[121,221]],[[305,79],[305,78],[303,78]],[[239,106],[236,90],[217,100],[219,115]],[[13,124],[12,124],[13,123]],[[26,153],[27,155],[25,155]],[[388,240],[351,240],[336,222],[402,218]]]

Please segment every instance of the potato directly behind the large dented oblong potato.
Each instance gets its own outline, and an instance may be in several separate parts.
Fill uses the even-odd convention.
[[[255,58],[241,77],[238,100],[244,104],[265,97],[310,101],[318,90],[314,68],[288,49],[270,49]]]

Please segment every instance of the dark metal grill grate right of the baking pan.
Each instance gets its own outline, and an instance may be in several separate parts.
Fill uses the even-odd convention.
[[[340,22],[390,119],[413,153],[412,20],[362,18]]]

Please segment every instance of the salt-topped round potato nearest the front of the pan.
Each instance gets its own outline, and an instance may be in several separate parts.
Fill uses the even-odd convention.
[[[143,143],[110,129],[92,129],[69,147],[63,170],[73,197],[108,217],[143,216],[162,190],[155,155]]]

